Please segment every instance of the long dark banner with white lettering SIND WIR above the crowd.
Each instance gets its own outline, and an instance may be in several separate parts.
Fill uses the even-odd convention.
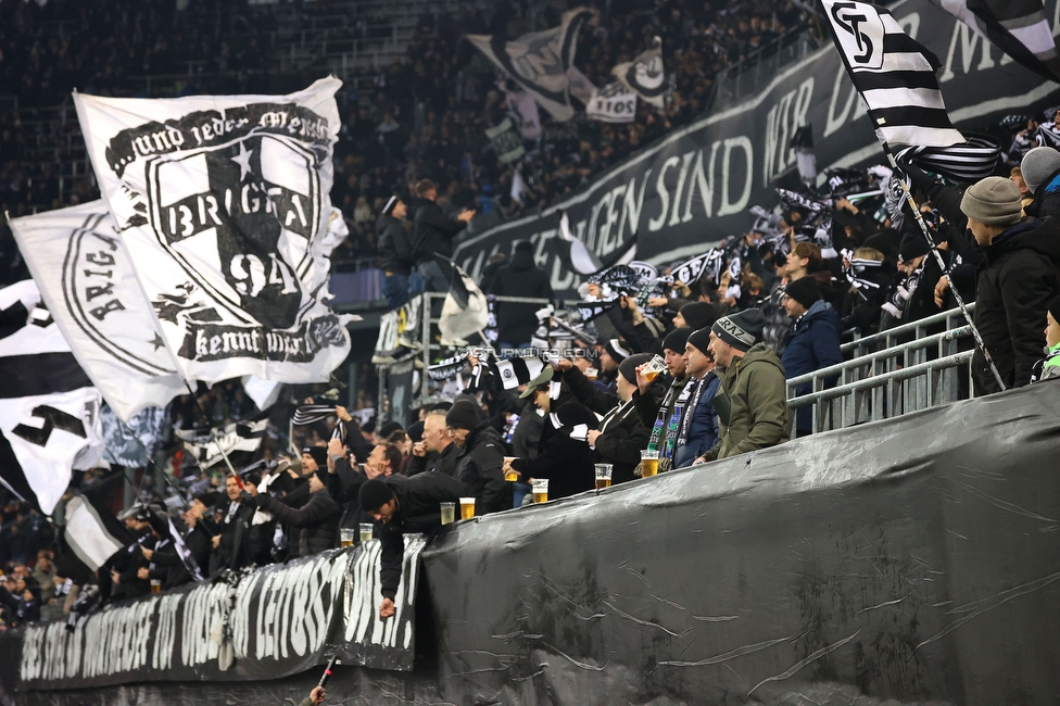
[[[1056,0],[1046,16],[1058,23]],[[1036,114],[1060,103],[1060,87],[1012,62],[952,15],[928,0],[891,8],[903,28],[943,62],[938,81],[958,128],[993,130],[1010,113]],[[1034,110],[1032,110],[1034,109]],[[602,257],[634,235],[638,259],[668,265],[704,252],[722,238],[745,232],[747,210],[777,202],[777,178],[795,169],[788,142],[812,125],[820,172],[886,163],[854,85],[831,41],[784,68],[758,96],[674,130],[666,139],[605,172],[575,196],[500,225],[460,243],[454,260],[478,280],[494,252],[509,254],[517,240],[532,240],[534,256],[557,294],[581,281],[556,261],[559,212],[571,230]]]

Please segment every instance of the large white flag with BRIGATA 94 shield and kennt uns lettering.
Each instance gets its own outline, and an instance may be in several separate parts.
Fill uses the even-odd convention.
[[[289,96],[76,94],[88,152],[185,378],[327,380],[350,351],[327,306],[326,78]]]

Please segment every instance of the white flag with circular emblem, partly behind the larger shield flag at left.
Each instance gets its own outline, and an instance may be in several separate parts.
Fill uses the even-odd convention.
[[[106,204],[13,218],[11,230],[74,356],[123,420],[187,392]]]

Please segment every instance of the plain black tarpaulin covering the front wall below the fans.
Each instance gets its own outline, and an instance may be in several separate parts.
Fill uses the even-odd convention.
[[[457,522],[422,553],[414,670],[340,667],[329,698],[1056,703],[1058,394],[1046,381]],[[319,678],[39,691],[15,673],[38,664],[21,640],[0,634],[20,705],[298,703]]]

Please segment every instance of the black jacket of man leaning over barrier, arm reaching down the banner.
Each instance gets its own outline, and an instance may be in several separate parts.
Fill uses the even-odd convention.
[[[391,601],[398,594],[401,567],[405,556],[404,535],[412,532],[431,534],[442,526],[439,503],[459,503],[467,494],[464,483],[444,474],[419,474],[413,478],[387,476],[382,479],[398,501],[390,521],[376,522],[380,545],[380,593]]]

